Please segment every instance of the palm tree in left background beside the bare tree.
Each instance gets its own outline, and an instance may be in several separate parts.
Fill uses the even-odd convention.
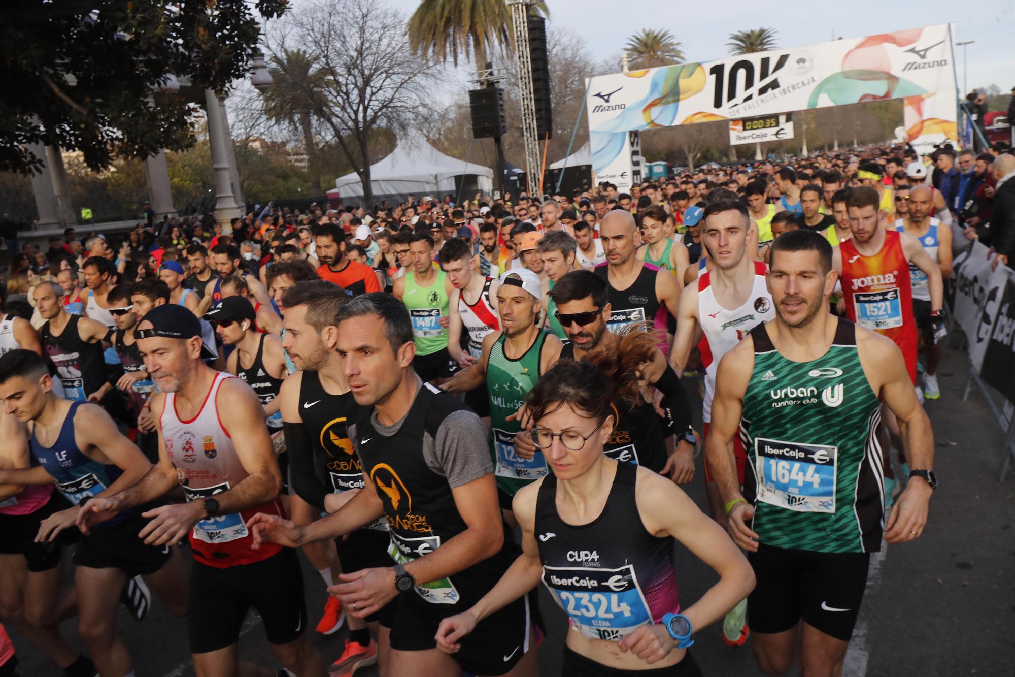
[[[314,59],[303,50],[284,50],[281,55],[273,56],[268,72],[271,73],[271,86],[263,95],[264,112],[275,122],[287,124],[302,134],[311,188],[315,194],[320,193],[312,113],[316,106],[315,93],[320,89],[323,76],[315,68]]]

